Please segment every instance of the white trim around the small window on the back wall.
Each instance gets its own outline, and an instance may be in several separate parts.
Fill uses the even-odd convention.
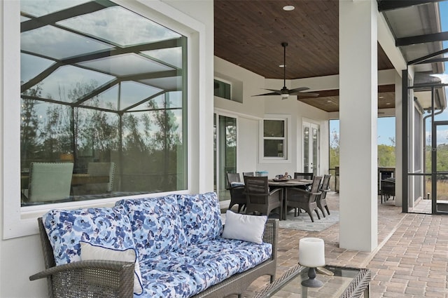
[[[283,157],[265,157],[265,137],[264,137],[264,121],[265,120],[281,120],[285,121],[285,142],[283,149],[285,149]],[[259,144],[258,156],[259,163],[291,163],[291,116],[285,114],[265,114],[265,118],[259,121]]]

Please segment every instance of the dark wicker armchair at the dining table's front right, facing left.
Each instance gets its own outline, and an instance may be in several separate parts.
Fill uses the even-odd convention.
[[[321,219],[321,216],[317,211],[318,207],[316,203],[317,197],[322,194],[322,192],[319,191],[321,180],[322,176],[314,176],[311,191],[297,189],[295,187],[286,189],[286,208],[291,207],[304,210],[311,218],[311,222],[314,222],[313,211],[316,212],[318,219]],[[296,212],[294,212],[294,216],[297,216]]]

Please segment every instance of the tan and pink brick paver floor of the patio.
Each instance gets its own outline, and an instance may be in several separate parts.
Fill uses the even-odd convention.
[[[276,277],[297,264],[300,238],[318,237],[325,241],[327,264],[370,269],[372,298],[448,298],[448,215],[406,214],[392,200],[378,202],[379,245],[374,252],[339,248],[339,224],[321,232],[280,229]],[[330,212],[338,210],[338,194],[329,194],[327,203]],[[267,276],[258,278],[244,297],[267,283]]]

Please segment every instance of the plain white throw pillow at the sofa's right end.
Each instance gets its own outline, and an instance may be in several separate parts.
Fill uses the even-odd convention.
[[[243,215],[227,210],[223,238],[261,244],[267,216]]]

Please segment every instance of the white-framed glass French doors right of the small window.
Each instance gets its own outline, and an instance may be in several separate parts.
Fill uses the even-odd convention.
[[[319,168],[319,126],[303,122],[303,172],[313,172],[318,175]]]

